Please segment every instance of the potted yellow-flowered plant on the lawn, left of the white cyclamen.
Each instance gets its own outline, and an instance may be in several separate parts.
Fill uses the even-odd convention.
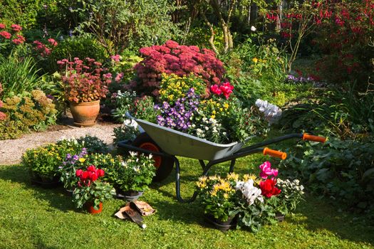
[[[235,208],[235,185],[219,176],[202,176],[197,182],[199,197],[204,206],[204,218],[215,228],[227,231],[232,227]]]

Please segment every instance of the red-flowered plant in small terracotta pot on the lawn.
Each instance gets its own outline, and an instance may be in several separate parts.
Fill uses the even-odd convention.
[[[73,191],[73,202],[77,208],[85,206],[89,213],[100,213],[103,210],[103,201],[112,198],[114,189],[110,184],[100,181],[105,172],[90,165],[86,170],[77,169],[79,180]]]

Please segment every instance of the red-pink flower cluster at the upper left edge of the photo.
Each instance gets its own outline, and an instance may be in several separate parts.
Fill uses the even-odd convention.
[[[0,52],[6,53],[11,51],[15,46],[23,44],[26,39],[21,33],[22,27],[18,24],[11,24],[7,27],[4,23],[0,23]]]

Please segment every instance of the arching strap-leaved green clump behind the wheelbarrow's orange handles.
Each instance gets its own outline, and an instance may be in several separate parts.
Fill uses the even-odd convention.
[[[365,139],[374,131],[374,94],[350,90],[318,90],[315,97],[289,107],[281,123],[293,129],[326,130],[342,139]]]

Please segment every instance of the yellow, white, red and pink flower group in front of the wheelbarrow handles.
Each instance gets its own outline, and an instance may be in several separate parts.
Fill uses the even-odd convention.
[[[202,176],[197,182],[199,198],[207,213],[221,221],[236,217],[237,228],[246,227],[253,232],[261,226],[275,223],[276,214],[294,211],[303,196],[298,180],[278,179],[278,170],[269,161],[259,166],[259,175],[228,174]],[[278,183],[280,182],[280,184]]]

